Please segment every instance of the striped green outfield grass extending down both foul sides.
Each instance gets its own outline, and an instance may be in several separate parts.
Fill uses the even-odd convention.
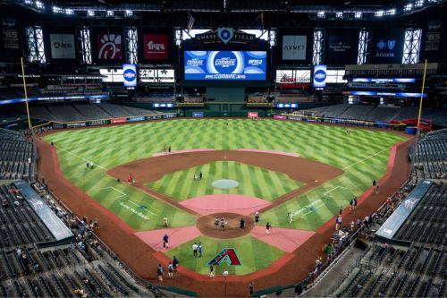
[[[351,131],[348,135],[343,127],[274,120],[181,119],[56,132],[45,140],[55,142],[63,175],[138,230],[162,227],[164,215],[175,218],[173,226],[191,226],[195,217],[116,183],[105,175],[105,169],[148,158],[161,152],[166,144],[173,150],[268,149],[299,153],[303,158],[342,168],[344,174],[267,211],[261,220],[273,226],[315,230],[340,206],[346,207],[352,197],[365,192],[373,179],[382,177],[392,145],[405,140],[393,132]],[[88,171],[87,160],[97,167]],[[189,181],[193,183],[191,177]],[[295,213],[295,218],[299,215],[300,220],[289,224],[288,211]]]

